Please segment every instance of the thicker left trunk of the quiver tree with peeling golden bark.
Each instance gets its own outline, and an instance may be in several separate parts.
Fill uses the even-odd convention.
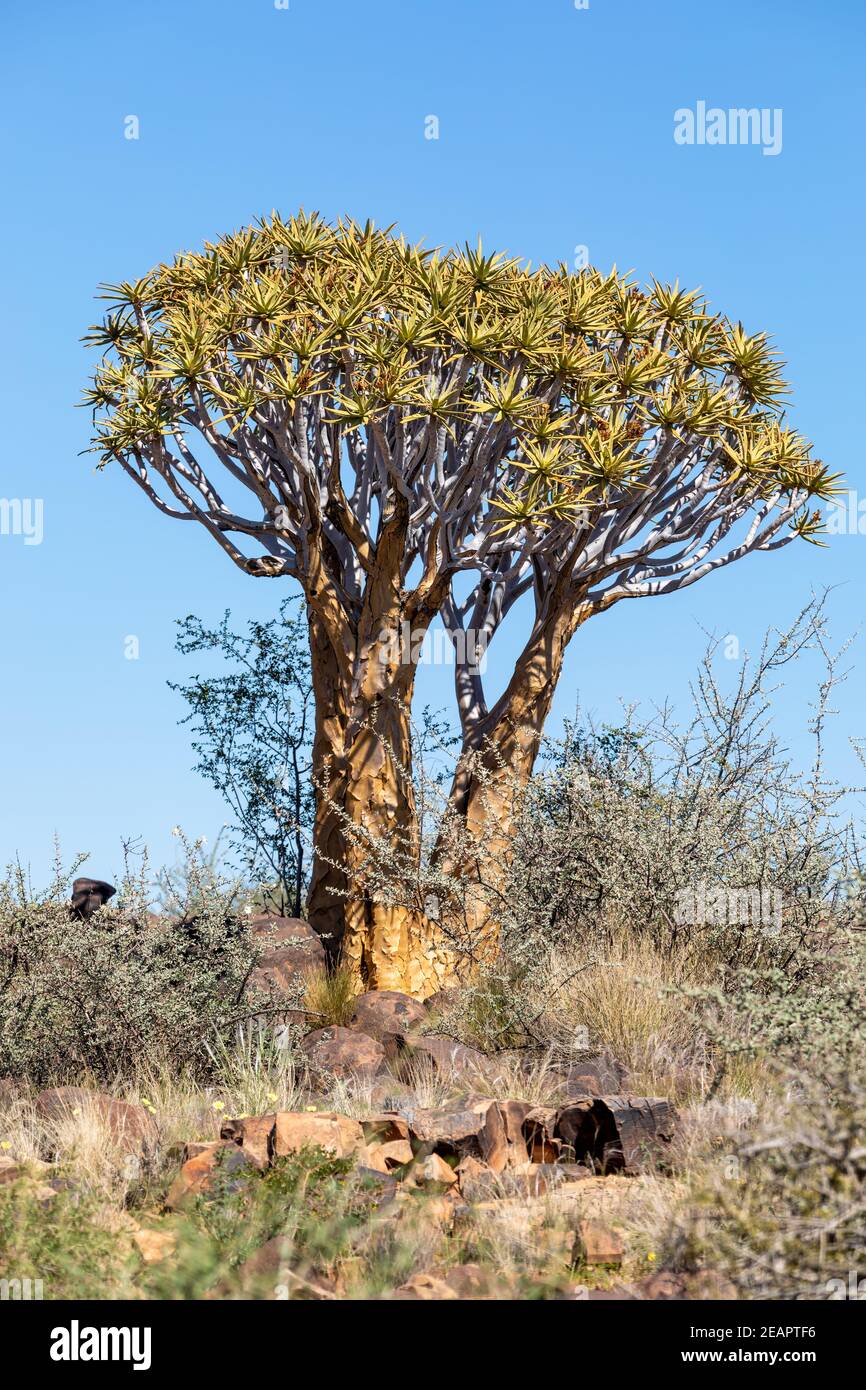
[[[384,901],[379,885],[399,880],[400,866],[409,878],[417,862],[409,712],[414,653],[435,607],[406,609],[393,577],[399,566],[386,564],[382,550],[350,662],[338,660],[331,635],[310,619],[320,787],[307,916],[328,935],[331,960],[339,955],[350,967],[359,991],[424,997],[438,988],[435,929],[405,902]]]

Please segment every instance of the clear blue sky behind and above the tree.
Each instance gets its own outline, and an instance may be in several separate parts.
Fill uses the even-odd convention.
[[[121,837],[174,858],[171,826],[224,815],[190,771],[165,681],[185,613],[277,609],[204,532],[157,514],[120,470],[81,457],[79,343],[100,281],[279,208],[398,222],[413,240],[484,238],[538,261],[702,285],[788,360],[792,421],[862,486],[866,11],[860,0],[43,0],[4,17],[6,211],[0,498],[42,499],[44,537],[0,535],[0,859],[42,881],[58,834],[113,877]],[[674,111],[781,108],[783,149],[681,146]],[[139,139],[124,136],[129,115]],[[438,117],[439,139],[424,138]],[[838,585],[840,637],[863,613],[860,535],[756,556],[681,595],[621,603],[578,632],[555,723],[620,699],[676,703],[702,628],[755,646],[810,587]],[[124,656],[125,638],[140,656]],[[866,638],[865,638],[866,641]],[[841,692],[834,771],[856,780],[865,653]],[[491,657],[492,659],[492,657]],[[723,671],[731,677],[733,671]],[[778,698],[795,752],[810,688]],[[421,696],[446,703],[443,673]]]

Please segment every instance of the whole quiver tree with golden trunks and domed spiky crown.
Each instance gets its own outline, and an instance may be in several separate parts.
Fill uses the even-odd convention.
[[[577,627],[817,535],[810,505],[834,480],[783,421],[778,360],[677,285],[441,254],[304,214],[104,297],[86,393],[101,461],[306,598],[310,919],[367,988],[428,992],[448,954],[363,872],[366,840],[417,838],[421,635],[441,614],[456,648],[452,809],[505,848],[498,781],[530,777]],[[478,649],[516,605],[525,645],[488,705]]]

